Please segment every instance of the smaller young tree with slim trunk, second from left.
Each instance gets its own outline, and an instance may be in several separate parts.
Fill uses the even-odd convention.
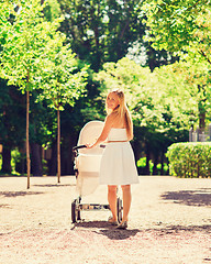
[[[48,43],[42,57],[40,73],[40,99],[46,99],[48,107],[57,111],[57,177],[60,183],[60,111],[65,105],[74,106],[85,91],[87,66],[79,65],[69,45],[63,46],[63,38]]]

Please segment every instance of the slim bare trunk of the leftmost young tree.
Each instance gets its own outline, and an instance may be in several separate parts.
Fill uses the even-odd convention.
[[[27,90],[27,91],[26,91],[26,165],[27,165],[27,189],[30,189],[30,173],[31,173],[29,127],[30,127],[30,91]]]

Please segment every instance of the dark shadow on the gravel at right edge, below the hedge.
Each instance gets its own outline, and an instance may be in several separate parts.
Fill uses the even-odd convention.
[[[167,191],[162,195],[162,198],[186,206],[211,207],[211,188]]]

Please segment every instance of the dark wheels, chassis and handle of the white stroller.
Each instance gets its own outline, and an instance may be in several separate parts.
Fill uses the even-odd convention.
[[[82,147],[87,147],[87,146],[86,145],[79,145],[79,146],[73,147],[73,153],[74,153],[75,157],[78,156],[78,150],[82,148]],[[106,147],[106,146],[100,145],[100,147]],[[78,169],[77,168],[75,169],[75,175],[76,175],[76,179],[77,179],[77,177],[78,177]],[[77,221],[81,221],[81,211],[96,211],[96,210],[106,211],[106,210],[110,210],[109,205],[81,204],[81,199],[82,199],[82,197],[79,196],[78,198],[76,198],[71,202],[71,222],[73,223],[76,223]],[[118,199],[116,199],[116,213],[118,213],[118,221],[119,222],[122,221],[122,210],[123,210],[122,200],[121,200],[120,197],[118,197]]]

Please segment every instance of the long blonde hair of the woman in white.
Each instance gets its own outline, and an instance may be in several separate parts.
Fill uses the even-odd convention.
[[[132,122],[132,118],[131,118],[129,108],[126,107],[124,92],[121,89],[112,89],[108,94],[108,96],[110,94],[115,94],[118,96],[120,105],[113,110],[113,112],[116,112],[116,114],[125,121],[127,138],[130,140],[132,140],[133,139],[133,122]],[[108,96],[107,96],[107,98],[108,98]],[[107,109],[108,114],[111,113],[112,110],[108,109],[107,103],[106,103],[106,109]]]

